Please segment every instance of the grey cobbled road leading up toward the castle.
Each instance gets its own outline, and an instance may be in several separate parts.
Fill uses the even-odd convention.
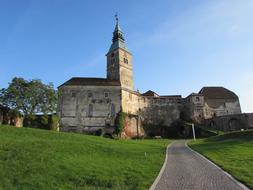
[[[165,170],[155,190],[242,190],[236,182],[206,159],[174,141]]]

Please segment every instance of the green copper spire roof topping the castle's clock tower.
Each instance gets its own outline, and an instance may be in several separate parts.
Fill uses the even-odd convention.
[[[126,47],[126,44],[125,44],[125,38],[123,36],[123,32],[121,31],[120,26],[119,26],[118,16],[116,15],[116,25],[115,25],[115,29],[113,32],[112,45],[111,45],[108,53],[110,53],[118,48],[121,48],[121,49],[129,52]]]

